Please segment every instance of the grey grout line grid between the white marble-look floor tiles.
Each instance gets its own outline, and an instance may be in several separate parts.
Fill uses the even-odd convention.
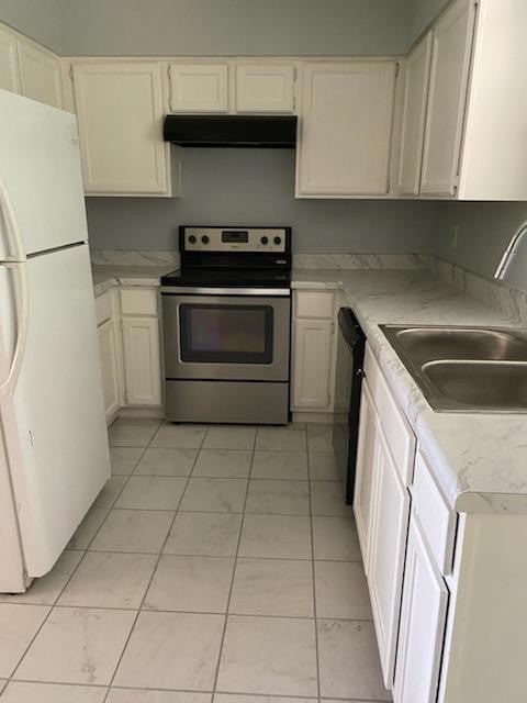
[[[231,448],[231,447],[225,447],[224,449],[222,448],[209,448],[209,447],[204,447],[204,444],[206,442],[206,437],[209,436],[209,433],[211,432],[211,429],[214,427],[214,425],[209,425],[204,433],[203,436],[201,438],[201,443],[199,447],[157,447],[157,446],[153,446],[153,443],[155,442],[156,436],[158,435],[160,428],[162,426],[165,426],[166,423],[159,422],[159,424],[157,425],[156,431],[154,432],[154,434],[152,435],[149,442],[146,444],[146,446],[143,447],[137,447],[135,445],[112,445],[112,448],[125,448],[125,447],[133,447],[135,449],[142,449],[141,455],[138,456],[138,458],[136,459],[132,471],[130,473],[112,473],[112,478],[120,478],[120,479],[124,479],[123,484],[121,486],[120,490],[117,491],[117,493],[115,494],[113,501],[110,503],[109,506],[104,506],[101,507],[101,510],[105,510],[106,514],[104,516],[104,520],[102,521],[102,523],[99,525],[99,527],[97,528],[97,531],[94,532],[94,534],[92,535],[91,539],[87,543],[87,547],[86,548],[81,548],[81,549],[76,549],[75,547],[71,549],[67,549],[66,550],[70,550],[70,551],[75,551],[75,553],[81,553],[81,558],[79,559],[78,563],[76,565],[76,567],[72,569],[71,573],[68,576],[67,580],[65,581],[63,588],[60,589],[60,591],[57,593],[57,595],[55,596],[55,600],[53,601],[52,604],[41,604],[41,603],[27,603],[29,605],[42,605],[43,607],[48,607],[48,612],[44,618],[44,621],[42,622],[42,624],[40,625],[40,627],[37,628],[35,635],[33,636],[33,638],[31,639],[30,644],[27,645],[27,647],[24,649],[22,656],[20,657],[15,668],[13,669],[11,677],[9,677],[7,679],[7,683],[5,683],[5,688],[9,685],[9,683],[11,681],[23,681],[22,679],[14,679],[13,677],[16,673],[16,670],[20,668],[21,662],[23,661],[23,659],[25,658],[27,651],[31,649],[31,647],[33,646],[36,637],[38,636],[38,634],[41,633],[42,628],[44,627],[44,625],[46,624],[46,622],[48,621],[48,618],[51,617],[52,613],[55,610],[102,610],[102,611],[122,611],[122,612],[135,612],[135,617],[133,620],[132,626],[130,628],[130,632],[127,634],[127,637],[125,639],[124,646],[121,650],[121,655],[116,661],[115,668],[113,670],[113,674],[110,678],[110,682],[109,683],[103,683],[103,684],[89,684],[89,683],[67,683],[67,682],[56,682],[57,684],[60,685],[79,685],[79,687],[85,687],[85,688],[98,688],[98,689],[106,689],[104,698],[103,698],[103,703],[108,702],[108,696],[111,694],[111,689],[131,689],[131,690],[143,690],[144,687],[137,687],[137,685],[114,685],[114,681],[117,674],[117,671],[121,667],[121,663],[125,657],[126,650],[128,648],[130,641],[133,637],[134,631],[136,628],[136,624],[137,621],[141,616],[142,613],[186,613],[186,614],[208,614],[208,615],[222,615],[224,616],[224,624],[223,624],[223,631],[222,631],[222,636],[221,636],[221,641],[220,641],[220,648],[218,648],[218,655],[217,655],[217,661],[216,661],[216,666],[215,666],[215,672],[214,672],[214,683],[212,687],[212,690],[209,691],[197,691],[197,690],[186,690],[186,689],[158,689],[156,687],[152,688],[148,687],[148,690],[153,690],[153,691],[188,691],[191,693],[197,693],[197,692],[201,692],[201,693],[206,693],[206,694],[211,694],[214,695],[216,693],[224,693],[224,694],[228,694],[228,695],[250,695],[250,696],[255,696],[255,698],[267,698],[267,699],[283,699],[285,694],[267,694],[267,693],[254,693],[254,692],[240,692],[240,691],[234,691],[234,692],[229,692],[229,691],[218,691],[217,689],[217,683],[218,683],[218,678],[220,678],[220,671],[221,671],[221,665],[222,665],[222,656],[223,656],[223,650],[225,647],[225,641],[226,641],[226,635],[227,635],[227,626],[228,626],[228,618],[231,615],[235,615],[236,617],[239,618],[268,618],[268,620],[274,620],[274,618],[279,618],[279,620],[294,620],[294,621],[307,621],[307,622],[313,622],[314,623],[314,637],[315,637],[315,658],[316,658],[316,687],[317,687],[317,694],[316,695],[291,695],[288,694],[287,698],[289,699],[310,699],[313,701],[316,700],[321,700],[322,696],[322,692],[321,692],[321,666],[319,666],[319,645],[318,645],[318,628],[317,628],[317,622],[323,620],[323,621],[343,621],[343,622],[358,622],[358,623],[371,623],[372,618],[347,618],[347,617],[318,617],[317,616],[317,606],[316,606],[316,581],[315,581],[315,565],[317,561],[328,561],[328,562],[336,562],[336,563],[348,563],[348,562],[361,562],[360,558],[356,558],[356,559],[350,559],[350,558],[340,558],[340,559],[336,559],[336,558],[319,558],[316,559],[315,558],[315,550],[314,550],[314,520],[317,517],[334,517],[334,518],[338,518],[338,520],[346,520],[346,517],[349,516],[349,513],[347,514],[336,514],[336,513],[321,513],[321,514],[314,514],[313,512],[313,483],[318,483],[318,482],[325,482],[325,483],[338,483],[338,480],[332,480],[332,479],[314,479],[312,476],[312,470],[311,470],[311,460],[310,457],[311,455],[327,455],[330,454],[329,451],[311,451],[309,449],[309,432],[307,432],[307,427],[294,427],[294,429],[296,432],[303,432],[304,433],[304,442],[305,442],[305,451],[299,451],[299,450],[287,450],[287,449],[279,449],[279,450],[274,450],[274,449],[257,449],[257,444],[258,444],[258,432],[260,429],[260,427],[256,427],[256,432],[254,434],[254,438],[253,438],[253,448],[249,449],[239,449],[239,448]],[[141,461],[143,460],[145,454],[147,453],[148,449],[150,448],[156,448],[156,449],[187,449],[187,450],[192,450],[194,453],[194,457],[192,459],[192,468],[190,469],[189,473],[186,473],[183,476],[175,476],[175,475],[158,475],[158,473],[136,473],[137,468],[141,465]],[[247,473],[247,476],[245,477],[229,477],[229,476],[194,476],[194,471],[199,461],[199,458],[202,454],[203,450],[208,450],[211,453],[214,451],[233,451],[233,453],[239,453],[239,454],[249,454],[250,453],[250,462],[249,462],[249,471]],[[305,454],[306,458],[307,458],[307,478],[304,479],[299,479],[299,478],[266,478],[266,477],[258,477],[258,476],[254,476],[254,466],[255,466],[255,457],[256,454],[258,453],[268,453],[268,454]],[[213,458],[213,457],[212,457]],[[279,460],[279,458],[277,457],[277,460]],[[121,494],[123,493],[123,491],[125,490],[126,486],[130,482],[130,479],[132,477],[141,477],[141,478],[150,478],[150,479],[156,479],[156,478],[178,478],[178,479],[184,479],[184,488],[181,492],[181,495],[179,498],[179,501],[177,503],[177,507],[173,510],[167,510],[167,509],[150,509],[150,507],[115,507],[115,504],[119,500],[119,498],[121,496]],[[189,484],[191,482],[192,479],[209,479],[209,480],[214,480],[214,479],[220,479],[220,480],[234,480],[234,481],[246,481],[246,490],[245,490],[245,498],[244,498],[244,503],[243,503],[243,507],[242,510],[238,511],[208,511],[208,510],[181,510],[181,504],[186,494],[187,489],[189,488]],[[300,484],[307,484],[307,493],[309,493],[309,509],[307,512],[305,513],[282,513],[282,512],[247,512],[247,502],[248,502],[248,496],[250,493],[250,486],[253,483],[253,481],[258,482],[258,481],[268,481],[268,482],[294,482],[294,483],[300,483]],[[91,545],[94,543],[97,536],[99,535],[99,533],[101,532],[101,529],[103,528],[104,524],[106,523],[109,515],[113,512],[113,511],[138,511],[138,512],[161,512],[161,513],[170,513],[171,514],[171,521],[170,521],[170,525],[168,528],[168,532],[166,534],[165,540],[162,543],[162,546],[160,547],[159,551],[131,551],[131,550],[109,550],[109,549],[93,549],[91,548]],[[176,518],[179,514],[184,514],[184,513],[190,513],[190,514],[218,514],[218,515],[240,515],[242,520],[240,520],[240,524],[239,524],[239,531],[238,531],[238,536],[237,536],[237,542],[236,542],[236,549],[234,551],[233,555],[227,555],[227,556],[223,556],[223,555],[213,555],[213,554],[182,554],[182,553],[167,553],[165,551],[166,549],[166,545],[168,543],[168,539],[170,537],[170,534],[173,529],[175,523],[176,523]],[[310,529],[310,539],[311,539],[311,558],[294,558],[294,557],[258,557],[258,556],[242,556],[239,554],[240,550],[240,545],[242,545],[242,538],[243,538],[243,534],[244,534],[244,526],[246,523],[246,518],[247,516],[289,516],[289,517],[307,517],[309,518],[309,529]],[[77,571],[79,570],[81,563],[83,563],[87,559],[87,555],[93,553],[93,554],[121,554],[121,555],[131,555],[131,556],[138,556],[138,555],[144,555],[144,556],[149,556],[155,558],[155,566],[154,569],[152,571],[150,578],[148,579],[148,582],[146,584],[146,588],[144,589],[144,593],[143,593],[143,598],[141,600],[141,603],[138,605],[138,607],[117,607],[117,606],[97,606],[97,605],[71,605],[71,604],[59,604],[58,601],[59,599],[63,596],[65,590],[68,588],[69,583],[71,582],[71,580],[74,579],[75,574],[77,573]],[[189,557],[189,558],[210,558],[210,559],[229,559],[233,561],[233,570],[232,570],[232,576],[231,576],[231,582],[229,582],[229,588],[228,588],[228,593],[227,593],[227,601],[226,601],[226,605],[225,605],[225,611],[204,611],[204,610],[199,610],[199,611],[189,611],[189,610],[170,610],[170,609],[150,609],[150,607],[145,607],[145,602],[146,602],[146,598],[148,594],[148,591],[152,588],[152,584],[154,582],[155,576],[158,571],[159,568],[159,563],[162,559],[162,557]],[[153,559],[154,560],[154,559]],[[236,612],[232,612],[231,611],[231,603],[232,603],[232,598],[233,598],[233,592],[234,592],[234,585],[235,585],[235,579],[236,579],[236,571],[237,571],[237,566],[238,562],[242,562],[244,560],[258,560],[258,561],[306,561],[310,562],[312,565],[311,568],[311,573],[312,573],[312,590],[313,590],[313,616],[295,616],[295,615],[272,615],[272,614],[261,614],[261,613],[236,613]],[[23,604],[23,603],[22,603]],[[32,683],[35,683],[34,680],[31,681]],[[36,682],[40,683],[40,682]],[[54,682],[42,682],[42,683],[54,683]],[[0,695],[1,698],[1,695]],[[326,696],[327,698],[327,696]],[[349,696],[330,696],[332,699],[338,700],[338,701],[346,701],[346,702],[350,702],[354,700],[359,700],[359,699],[354,699],[354,698],[349,698]],[[375,700],[372,700],[372,703],[377,703]]]

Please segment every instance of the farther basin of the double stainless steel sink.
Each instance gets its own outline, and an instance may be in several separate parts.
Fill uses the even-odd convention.
[[[411,357],[430,359],[505,359],[527,361],[527,334],[475,327],[389,327]]]

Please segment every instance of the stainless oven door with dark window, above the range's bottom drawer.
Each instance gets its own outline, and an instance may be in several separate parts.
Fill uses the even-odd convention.
[[[167,379],[289,380],[289,295],[169,290],[162,290]]]

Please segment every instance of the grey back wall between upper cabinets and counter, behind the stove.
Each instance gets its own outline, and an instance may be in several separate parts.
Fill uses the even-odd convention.
[[[183,197],[88,198],[96,248],[177,248],[179,224],[291,225],[298,252],[429,253],[437,203],[295,200],[294,152],[181,149]]]

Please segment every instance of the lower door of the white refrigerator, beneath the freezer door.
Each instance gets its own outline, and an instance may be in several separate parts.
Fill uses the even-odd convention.
[[[22,370],[0,411],[25,569],[34,578],[66,547],[110,476],[110,458],[88,246],[33,257],[26,267]],[[0,309],[0,326],[9,320]]]

